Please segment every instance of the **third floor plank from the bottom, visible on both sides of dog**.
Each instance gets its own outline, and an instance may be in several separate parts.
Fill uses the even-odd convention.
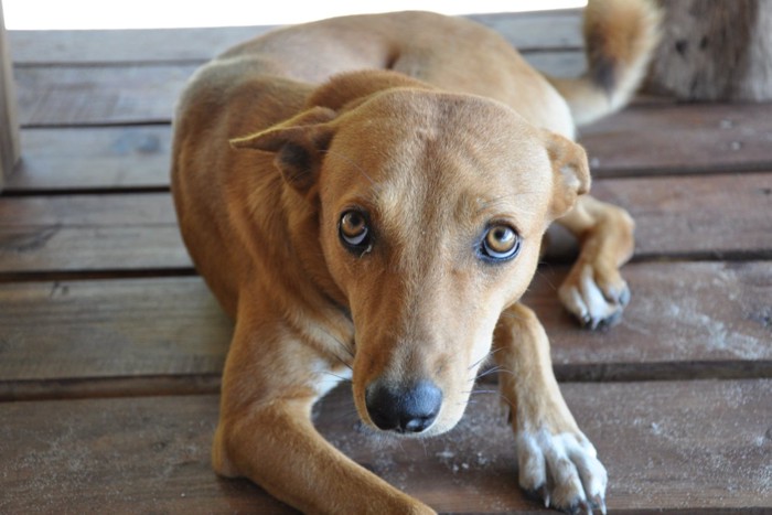
[[[593,194],[630,210],[639,260],[769,259],[770,176],[611,179]],[[190,266],[167,193],[0,199],[0,273]]]

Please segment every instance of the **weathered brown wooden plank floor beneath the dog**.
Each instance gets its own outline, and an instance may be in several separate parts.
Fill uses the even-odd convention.
[[[577,12],[481,17],[543,69],[582,68]],[[185,78],[256,29],[10,33],[23,164],[0,196],[0,513],[288,513],[217,479],[208,447],[230,323],[169,194]],[[582,130],[597,196],[637,221],[624,321],[582,331],[527,298],[612,513],[772,511],[772,105],[640,98]],[[570,251],[570,250],[569,250]],[[450,434],[373,442],[345,389],[318,425],[443,513],[543,512],[496,395]]]

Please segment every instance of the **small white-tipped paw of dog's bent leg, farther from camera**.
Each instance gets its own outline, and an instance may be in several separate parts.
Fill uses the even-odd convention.
[[[583,326],[594,330],[619,322],[630,302],[630,288],[616,267],[578,262],[558,296]]]

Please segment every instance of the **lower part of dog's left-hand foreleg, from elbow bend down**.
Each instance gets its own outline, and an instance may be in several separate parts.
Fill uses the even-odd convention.
[[[218,472],[246,476],[303,513],[435,513],[324,440],[310,421],[310,405],[275,399],[221,427]]]

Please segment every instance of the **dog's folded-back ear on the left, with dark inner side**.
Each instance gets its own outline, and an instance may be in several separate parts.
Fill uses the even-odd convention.
[[[317,181],[322,153],[334,135],[329,122],[335,116],[332,109],[313,107],[261,132],[232,139],[230,146],[275,152],[274,163],[285,181],[304,192]]]

